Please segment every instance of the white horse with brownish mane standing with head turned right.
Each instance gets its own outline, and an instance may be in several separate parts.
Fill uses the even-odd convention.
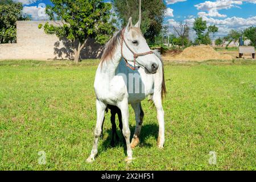
[[[158,147],[164,146],[164,111],[162,97],[166,92],[163,64],[148,47],[141,30],[141,10],[139,21],[132,25],[131,18],[121,31],[118,31],[106,44],[94,81],[96,93],[97,123],[94,131],[92,152],[86,162],[93,162],[97,155],[98,139],[102,131],[102,122],[108,105],[117,106],[122,113],[122,133],[126,140],[127,158],[133,159],[131,148],[139,143],[143,111],[141,101],[147,96],[154,101],[159,122]],[[122,61],[121,61],[122,60]],[[126,64],[125,64],[126,62]],[[131,64],[134,64],[134,67]],[[136,68],[137,66],[137,68]],[[129,67],[129,68],[127,68]],[[128,78],[128,79],[127,79]],[[139,78],[137,84],[133,80]],[[141,86],[142,85],[142,86]],[[135,88],[135,92],[134,92]],[[131,104],[135,111],[136,128],[130,144],[129,110]]]

